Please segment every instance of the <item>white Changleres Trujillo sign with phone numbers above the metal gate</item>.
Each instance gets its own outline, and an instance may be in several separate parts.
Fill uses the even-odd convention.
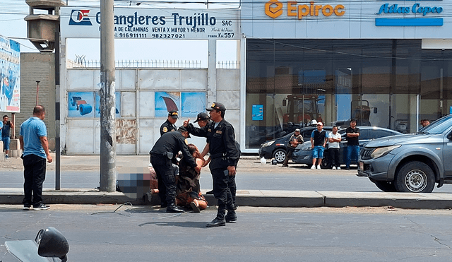
[[[114,37],[239,39],[239,11],[114,8]],[[61,7],[62,37],[100,37],[100,8]]]

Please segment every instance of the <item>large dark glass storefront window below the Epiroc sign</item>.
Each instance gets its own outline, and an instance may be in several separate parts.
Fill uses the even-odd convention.
[[[418,117],[449,114],[452,51],[421,46],[421,40],[246,40],[246,148],[312,120],[347,127],[356,118],[361,126],[410,133]],[[262,108],[261,118],[252,117],[253,106]]]

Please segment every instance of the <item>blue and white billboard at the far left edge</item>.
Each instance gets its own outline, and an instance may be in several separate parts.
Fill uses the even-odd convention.
[[[20,45],[1,35],[0,111],[20,112]]]

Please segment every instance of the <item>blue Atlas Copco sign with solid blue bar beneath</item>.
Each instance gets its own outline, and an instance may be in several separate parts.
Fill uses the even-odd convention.
[[[418,0],[420,2],[424,0]],[[440,0],[441,1],[441,0]],[[410,4],[401,6],[399,4],[383,4],[380,6],[377,15],[403,15],[403,18],[376,18],[376,26],[442,26],[443,18],[430,17],[443,12],[442,6],[429,6],[426,4]],[[413,16],[413,17],[410,17]],[[418,17],[422,16],[422,17]]]

